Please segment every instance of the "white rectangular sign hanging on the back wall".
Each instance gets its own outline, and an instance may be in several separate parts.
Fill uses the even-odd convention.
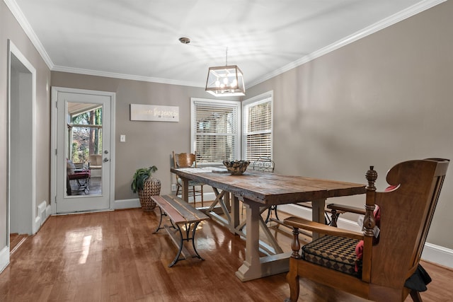
[[[130,104],[130,120],[179,122],[179,107]]]

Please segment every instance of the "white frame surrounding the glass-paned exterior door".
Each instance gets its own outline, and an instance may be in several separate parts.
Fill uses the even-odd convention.
[[[52,214],[57,214],[57,127],[58,127],[58,115],[57,115],[57,100],[58,93],[80,93],[80,94],[92,94],[92,95],[103,95],[110,97],[110,192],[109,192],[109,209],[114,209],[115,205],[115,98],[116,93],[108,91],[93,91],[78,88],[67,88],[67,87],[52,87],[52,98],[51,98],[51,138],[50,138],[50,197],[52,205]],[[63,151],[60,151],[63,152]]]

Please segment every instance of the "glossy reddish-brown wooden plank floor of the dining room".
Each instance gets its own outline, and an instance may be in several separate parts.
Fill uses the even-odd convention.
[[[283,301],[285,274],[241,282],[234,272],[245,242],[214,221],[197,231],[204,261],[169,268],[176,248],[156,214],[141,209],[51,216],[11,255],[0,274],[0,301]],[[281,228],[281,227],[280,227]],[[289,250],[289,237],[276,231]],[[425,302],[453,301],[453,271],[423,262],[433,281]],[[364,301],[301,280],[299,301]],[[407,301],[411,301],[408,298]]]

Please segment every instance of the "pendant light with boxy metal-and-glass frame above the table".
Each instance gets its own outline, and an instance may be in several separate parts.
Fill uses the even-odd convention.
[[[228,47],[225,66],[210,67],[207,71],[206,91],[214,96],[246,95],[243,74],[237,65],[228,66]]]

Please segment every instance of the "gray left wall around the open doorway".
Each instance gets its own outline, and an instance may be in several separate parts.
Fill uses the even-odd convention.
[[[6,246],[6,160],[7,160],[7,45],[10,39],[36,69],[36,204],[50,202],[50,70],[13,17],[0,1],[0,250]],[[12,169],[16,167],[11,167]],[[27,171],[23,171],[27,173]],[[27,184],[25,184],[27,185]],[[31,201],[30,201],[31,207]],[[23,218],[28,219],[28,218]]]

